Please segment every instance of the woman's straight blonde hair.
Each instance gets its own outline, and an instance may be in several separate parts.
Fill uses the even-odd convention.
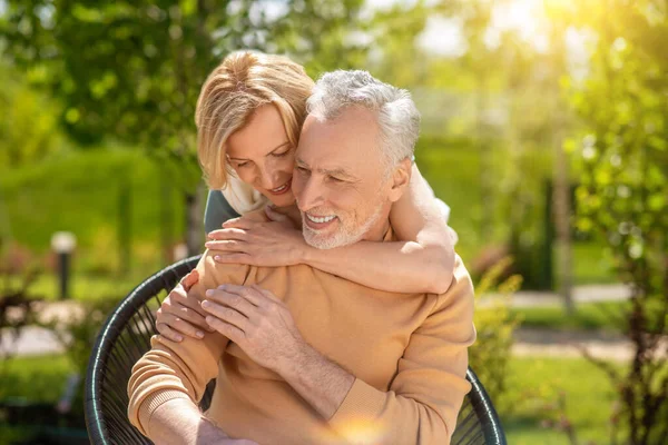
[[[296,147],[313,85],[304,68],[286,57],[249,51],[227,56],[204,82],[195,111],[197,157],[208,187],[225,187],[227,138],[263,105],[276,107]]]

